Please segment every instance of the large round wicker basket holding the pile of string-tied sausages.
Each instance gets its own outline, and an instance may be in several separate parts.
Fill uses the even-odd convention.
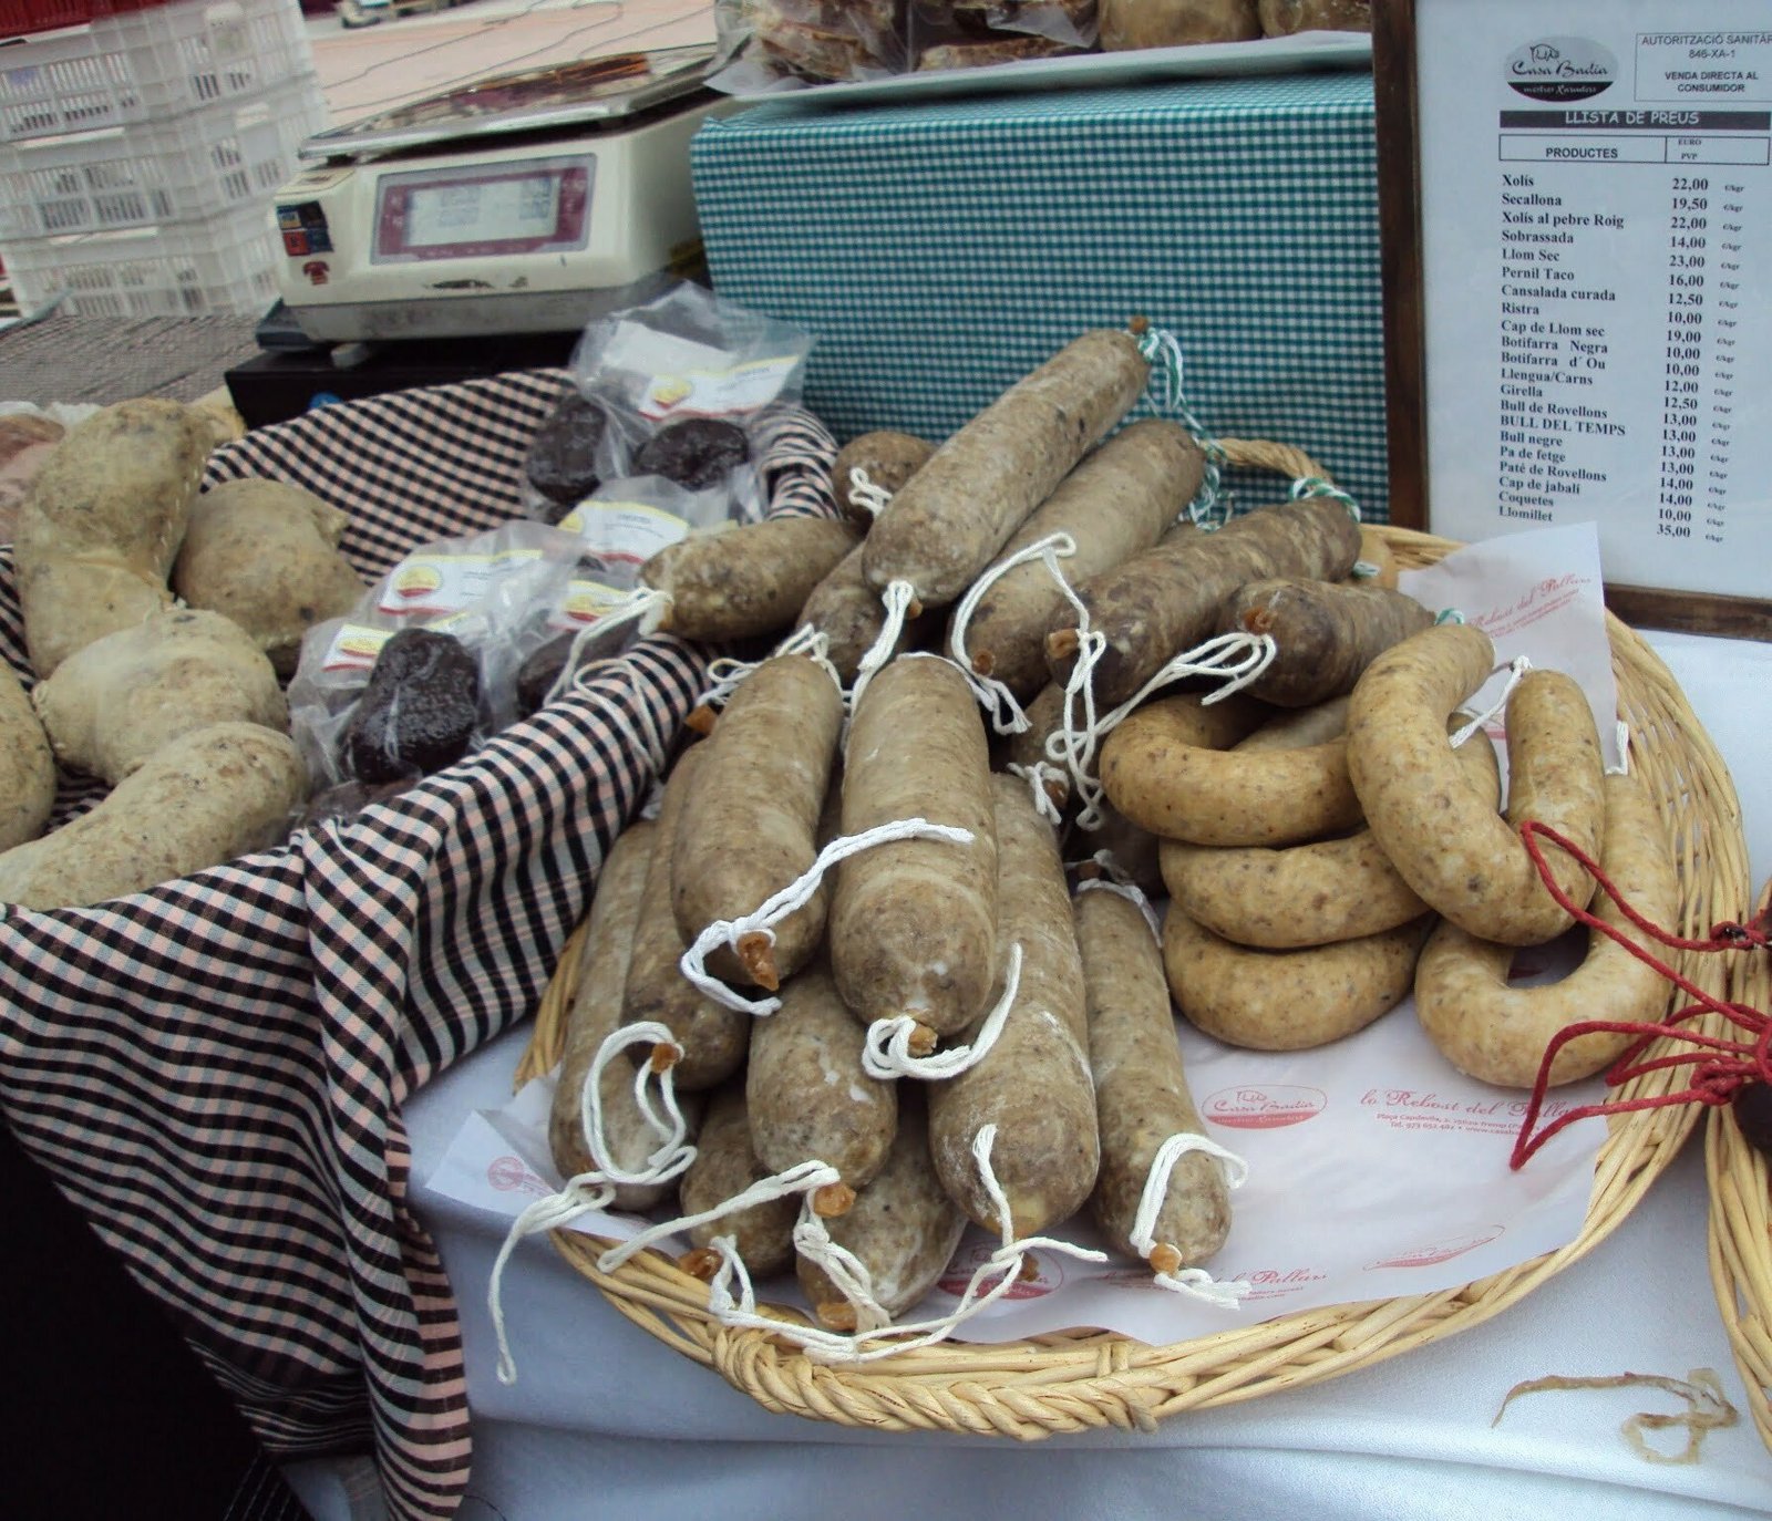
[[[1405,568],[1430,565],[1457,547],[1425,533],[1380,531]],[[1751,892],[1735,784],[1653,650],[1616,618],[1607,618],[1607,629],[1620,717],[1632,731],[1632,761],[1657,797],[1678,859],[1682,923],[1673,928],[1696,937],[1719,919],[1738,917]],[[537,1013],[519,1082],[548,1071],[560,1057],[578,940],[562,954]],[[1676,956],[1689,977],[1722,995],[1726,969],[1719,960]],[[1652,1073],[1620,1092],[1666,1092],[1680,1080],[1676,1073]],[[627,1319],[718,1369],[771,1411],[874,1431],[1024,1440],[1106,1425],[1148,1431],[1185,1409],[1318,1383],[1481,1324],[1616,1229],[1696,1121],[1690,1107],[1614,1116],[1595,1167],[1586,1224],[1577,1239],[1556,1252],[1462,1289],[1302,1310],[1171,1346],[1079,1330],[991,1346],[950,1340],[861,1367],[831,1367],[766,1332],[719,1324],[707,1314],[707,1284],[657,1252],[641,1252],[617,1271],[601,1273],[597,1257],[610,1243],[556,1231],[555,1245]],[[1763,1170],[1760,1201],[1763,1224]],[[1763,1234],[1760,1250],[1763,1261]],[[797,1319],[790,1309],[780,1314]],[[1772,1362],[1767,1351],[1761,1342],[1761,1372]]]

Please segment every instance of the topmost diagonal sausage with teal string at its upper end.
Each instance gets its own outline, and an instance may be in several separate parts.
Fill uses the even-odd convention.
[[[960,597],[1079,459],[1132,409],[1150,365],[1129,333],[1067,344],[960,427],[868,529],[863,568],[925,607]]]

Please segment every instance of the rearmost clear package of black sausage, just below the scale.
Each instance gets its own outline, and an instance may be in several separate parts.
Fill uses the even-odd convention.
[[[602,480],[659,476],[719,492],[725,517],[762,517],[758,421],[794,404],[812,335],[688,282],[590,322],[572,352],[578,393],[602,414]]]

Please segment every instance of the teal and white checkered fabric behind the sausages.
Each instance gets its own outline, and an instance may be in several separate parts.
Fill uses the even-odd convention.
[[[1368,73],[783,97],[703,126],[693,170],[716,289],[817,335],[806,404],[838,439],[939,441],[1145,315],[1209,432],[1295,444],[1387,519]]]

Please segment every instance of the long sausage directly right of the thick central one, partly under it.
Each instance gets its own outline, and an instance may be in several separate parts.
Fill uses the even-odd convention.
[[[987,1231],[1019,1239],[1070,1218],[1100,1162],[1090,1078],[1083,958],[1053,827],[1015,777],[991,779],[998,834],[998,965],[1021,947],[1008,1020],[983,1059],[930,1084],[929,1137],[943,1188]],[[973,1140],[994,1124],[991,1169],[1008,1201],[999,1220]]]

